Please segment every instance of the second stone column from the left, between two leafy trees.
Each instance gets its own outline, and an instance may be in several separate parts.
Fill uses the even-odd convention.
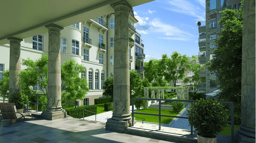
[[[61,106],[61,52],[60,31],[63,27],[56,24],[45,26],[48,28],[48,95],[47,109],[42,113],[47,119],[64,118]]]

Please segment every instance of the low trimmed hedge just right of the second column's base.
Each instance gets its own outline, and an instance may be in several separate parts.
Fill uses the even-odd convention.
[[[81,107],[83,109],[86,109],[88,111],[97,113],[97,106],[95,106],[95,105],[89,105],[89,106],[82,105],[82,106],[79,106],[79,107]],[[81,109],[79,107],[67,108],[67,114],[70,115],[73,118],[79,118],[79,119],[83,118],[83,109]],[[95,115],[94,113],[88,112],[86,110],[85,110],[85,116],[84,117]]]

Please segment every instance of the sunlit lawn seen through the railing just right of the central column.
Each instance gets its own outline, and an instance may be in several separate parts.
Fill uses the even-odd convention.
[[[141,109],[135,112],[140,112],[140,113],[150,113],[150,114],[159,114],[159,110],[158,109],[152,109],[152,108],[148,108],[148,109]],[[132,114],[132,113],[131,113]],[[173,111],[173,110],[168,110],[168,109],[162,109],[161,110],[161,114],[162,115],[173,115],[173,116],[177,116],[178,113]],[[152,116],[152,115],[140,115],[140,114],[134,114],[137,117],[140,118],[145,118],[145,122],[155,122],[155,123],[159,123],[159,117],[158,116]],[[140,118],[136,118],[135,119],[137,121],[142,121],[142,119]],[[161,124],[170,124],[171,121],[173,121],[174,118],[171,117],[161,117]]]

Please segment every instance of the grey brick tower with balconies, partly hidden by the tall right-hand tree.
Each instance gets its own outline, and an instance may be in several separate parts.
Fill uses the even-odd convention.
[[[238,9],[241,6],[241,0],[206,0],[206,21],[198,22],[198,46],[199,63],[204,65],[208,62],[213,55],[214,49],[218,48],[214,44],[218,38],[218,33],[221,32],[222,25],[218,24],[220,21],[220,11],[224,9]],[[200,83],[199,89],[205,90],[206,93],[211,93],[216,90],[219,86],[216,84],[216,75],[213,72],[206,69],[199,69],[199,75],[205,77],[205,83]]]

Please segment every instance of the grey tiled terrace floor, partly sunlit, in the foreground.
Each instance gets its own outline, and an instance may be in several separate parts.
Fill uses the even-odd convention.
[[[105,123],[74,118],[0,122],[0,143],[170,143],[105,130]],[[9,120],[6,120],[9,121]]]

